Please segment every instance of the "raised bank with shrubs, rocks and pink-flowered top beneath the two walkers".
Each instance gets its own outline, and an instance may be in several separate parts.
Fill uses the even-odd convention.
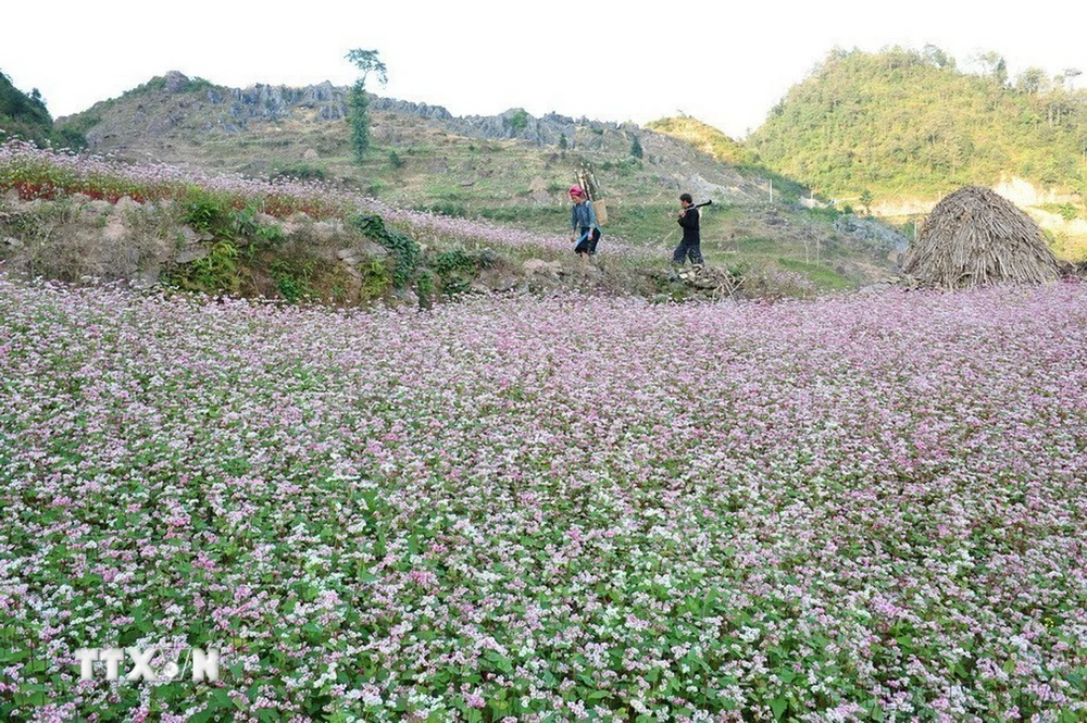
[[[0,264],[75,284],[425,308],[465,294],[558,290],[658,301],[808,297],[887,276],[895,247],[886,229],[842,219],[832,235],[799,215],[747,214],[742,238],[707,249],[722,282],[707,285],[673,274],[669,254],[611,235],[587,263],[562,234],[395,208],[327,183],[0,145]],[[783,255],[775,228],[802,236],[803,247]]]

